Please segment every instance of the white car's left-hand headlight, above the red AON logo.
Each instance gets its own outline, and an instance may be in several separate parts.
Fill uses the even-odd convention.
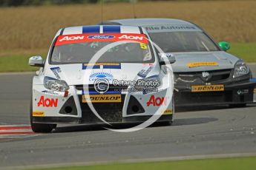
[[[45,77],[44,86],[46,89],[54,90],[57,92],[65,92],[69,89],[66,81],[57,80],[55,78]]]

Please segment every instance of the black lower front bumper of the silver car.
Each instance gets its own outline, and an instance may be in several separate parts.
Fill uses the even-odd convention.
[[[223,91],[191,92],[191,86],[175,86],[175,106],[246,104],[256,102],[256,82],[223,84]]]

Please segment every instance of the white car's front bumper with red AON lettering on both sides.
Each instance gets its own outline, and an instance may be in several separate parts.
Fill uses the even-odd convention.
[[[108,123],[139,123],[148,120],[157,112],[160,118],[157,121],[173,120],[172,98],[165,96],[166,89],[149,94],[134,92],[128,96],[119,94],[118,102],[93,102],[97,114]],[[63,92],[49,92],[42,85],[33,87],[33,123],[104,123],[100,120],[84,101],[82,89],[70,86],[68,96]],[[111,95],[110,95],[111,96]],[[161,104],[166,105],[165,110],[157,110],[159,106],[149,104],[154,100],[163,99]],[[157,101],[159,102],[159,101]]]

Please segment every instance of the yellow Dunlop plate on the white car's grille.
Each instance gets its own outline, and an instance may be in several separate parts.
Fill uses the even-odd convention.
[[[90,101],[91,99],[91,101]],[[121,95],[82,95],[82,103],[120,103]]]

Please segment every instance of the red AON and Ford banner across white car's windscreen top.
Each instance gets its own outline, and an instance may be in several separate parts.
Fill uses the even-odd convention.
[[[109,42],[109,41],[137,41],[139,43],[148,44],[148,38],[144,34],[73,34],[73,35],[59,35],[55,46],[74,44],[74,43],[86,43],[86,42]]]

